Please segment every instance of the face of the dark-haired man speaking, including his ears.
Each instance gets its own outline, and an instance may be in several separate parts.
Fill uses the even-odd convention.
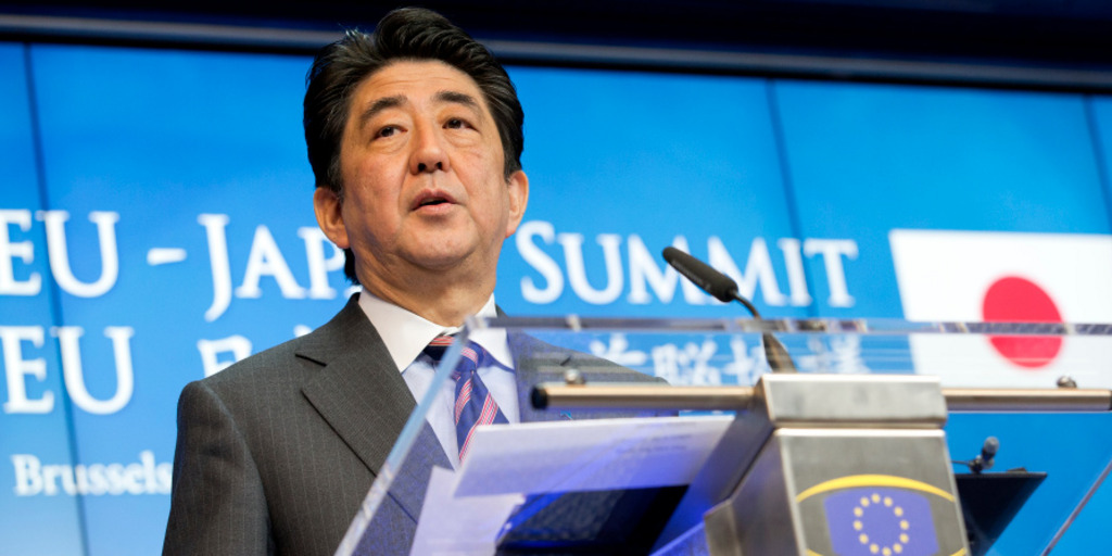
[[[355,251],[371,292],[419,287],[409,281],[415,270],[458,272],[493,289],[502,242],[528,198],[525,173],[507,180],[503,157],[469,76],[439,61],[394,62],[353,96],[340,148],[344,201],[318,188],[318,221]]]

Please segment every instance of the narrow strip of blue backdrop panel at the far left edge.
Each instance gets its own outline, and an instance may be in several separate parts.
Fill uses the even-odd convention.
[[[24,49],[0,43],[0,538],[8,554],[80,554]]]

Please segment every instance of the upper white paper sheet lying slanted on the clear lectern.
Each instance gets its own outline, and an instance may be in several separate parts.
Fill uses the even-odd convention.
[[[456,497],[687,485],[733,416],[479,427]]]

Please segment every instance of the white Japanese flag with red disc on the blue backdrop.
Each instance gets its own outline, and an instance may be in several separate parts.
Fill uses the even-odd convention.
[[[892,230],[904,318],[1112,322],[1112,236]],[[1112,337],[915,335],[920,374],[946,386],[1112,388]]]

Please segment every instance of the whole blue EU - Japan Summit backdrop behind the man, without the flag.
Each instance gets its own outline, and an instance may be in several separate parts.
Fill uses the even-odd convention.
[[[0,552],[157,553],[181,387],[344,304],[311,210],[308,66],[0,43]],[[514,315],[736,315],[663,268],[675,245],[766,315],[898,318],[893,229],[1112,232],[1109,98],[510,73],[532,185],[496,290]],[[1106,425],[954,419],[955,457],[996,434],[1032,446],[1002,467],[1063,470],[999,554],[1046,540],[1022,519],[1076,502],[1098,467],[1059,455],[1106,456]],[[1108,490],[1055,554],[1103,546]]]

